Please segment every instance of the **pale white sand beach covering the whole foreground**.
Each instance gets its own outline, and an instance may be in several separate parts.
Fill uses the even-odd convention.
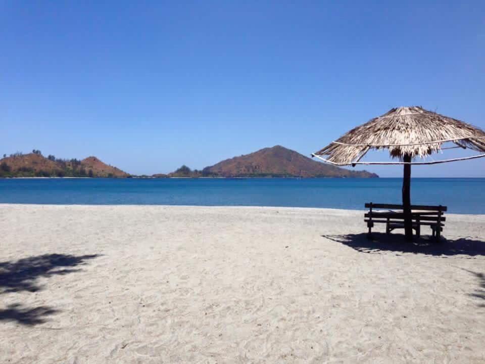
[[[0,362],[483,363],[485,216],[416,252],[322,237],[365,231],[345,210],[0,205]]]

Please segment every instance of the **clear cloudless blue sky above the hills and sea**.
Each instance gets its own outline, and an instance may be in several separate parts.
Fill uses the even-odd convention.
[[[202,169],[274,145],[309,156],[412,105],[485,129],[483,0],[0,0],[0,50],[0,155]],[[485,159],[412,175],[485,177]]]

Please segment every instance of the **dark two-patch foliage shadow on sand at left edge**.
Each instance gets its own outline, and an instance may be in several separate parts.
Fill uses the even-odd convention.
[[[36,292],[42,289],[37,279],[66,275],[81,269],[73,267],[85,264],[86,260],[98,257],[92,255],[44,254],[19,259],[17,261],[0,262],[0,294],[12,292]],[[37,325],[44,323],[45,317],[58,312],[49,306],[25,307],[14,303],[5,309],[0,309],[0,321],[16,321],[22,325]]]

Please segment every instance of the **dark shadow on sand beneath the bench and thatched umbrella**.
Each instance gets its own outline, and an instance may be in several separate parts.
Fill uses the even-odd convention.
[[[439,243],[422,237],[413,242],[405,240],[401,234],[372,233],[372,239],[367,234],[322,235],[323,238],[342,243],[348,247],[368,254],[383,254],[386,252],[414,253],[447,258],[453,255],[465,255],[471,259],[475,256],[485,256],[485,242],[473,239],[442,239]]]

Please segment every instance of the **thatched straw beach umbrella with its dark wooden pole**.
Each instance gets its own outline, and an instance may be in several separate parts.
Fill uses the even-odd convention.
[[[446,142],[456,144],[453,148],[470,148],[485,152],[485,131],[460,120],[440,115],[422,107],[400,107],[371,119],[352,130],[325,148],[313,153],[323,161],[334,165],[356,164],[403,164],[403,212],[405,232],[412,239],[411,219],[411,165],[435,164],[457,160],[485,157],[479,154],[471,157],[439,161],[412,162],[415,157],[424,158],[439,152]],[[371,149],[389,149],[391,157],[399,161],[360,162]],[[325,156],[326,158],[323,158]]]

